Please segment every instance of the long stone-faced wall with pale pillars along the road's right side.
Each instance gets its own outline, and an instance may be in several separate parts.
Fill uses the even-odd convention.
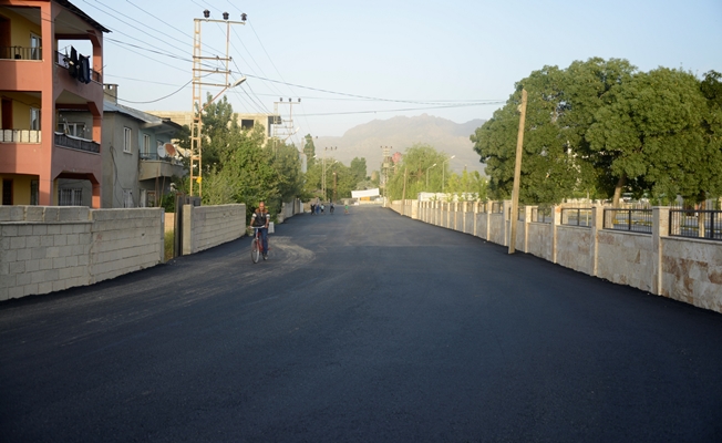
[[[425,223],[465,231],[498,245],[508,246],[510,202],[474,206],[474,231],[470,214],[458,205],[421,202]],[[590,227],[561,224],[561,206],[553,208],[553,223],[532,222],[532,208],[517,225],[516,249],[546,260],[628,285],[651,293],[673,298],[722,312],[722,241],[668,236],[669,208],[653,208],[652,234],[605,230],[604,208],[592,208]],[[467,208],[468,210],[468,208]],[[463,220],[463,222],[457,222]]]

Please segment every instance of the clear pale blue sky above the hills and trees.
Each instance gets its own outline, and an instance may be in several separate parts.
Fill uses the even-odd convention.
[[[230,25],[228,52],[230,82],[247,80],[221,96],[239,113],[278,110],[299,144],[398,115],[486,120],[533,71],[592,56],[640,71],[722,72],[722,0],[71,2],[112,31],[104,82],[118,84],[121,104],[144,111],[190,111],[194,19],[204,9],[230,21],[245,12],[245,24]],[[204,56],[225,56],[226,29],[200,22]]]

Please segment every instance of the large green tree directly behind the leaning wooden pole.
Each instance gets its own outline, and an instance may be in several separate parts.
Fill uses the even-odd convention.
[[[584,135],[612,85],[633,71],[625,60],[589,59],[568,69],[544,66],[516,84],[506,105],[471,136],[486,163],[493,198],[512,193],[522,89],[528,93],[519,199],[556,203],[581,189],[595,194],[600,178]],[[604,166],[604,165],[600,165]]]

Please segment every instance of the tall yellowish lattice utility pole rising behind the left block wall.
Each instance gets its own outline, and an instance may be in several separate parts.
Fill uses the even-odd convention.
[[[246,18],[247,16],[245,13],[240,14],[240,19],[243,21],[228,21],[228,12],[224,12],[223,20],[213,20],[210,19],[210,11],[207,9],[203,11],[203,19],[193,19],[194,22],[194,30],[193,30],[193,107],[192,107],[192,115],[193,115],[193,121],[190,122],[190,188],[188,189],[188,194],[193,196],[193,182],[198,181],[198,196],[203,196],[203,182],[202,182],[202,176],[203,176],[203,137],[200,135],[200,130],[202,130],[202,117],[203,117],[203,96],[200,94],[200,86],[206,85],[206,86],[220,86],[224,87],[218,95],[216,95],[208,104],[210,104],[214,100],[216,100],[220,94],[227,90],[228,87],[231,86],[230,81],[229,81],[229,75],[230,75],[230,70],[228,69],[228,62],[231,60],[228,56],[228,45],[230,43],[230,25],[231,24],[246,24]],[[226,56],[220,58],[220,56],[203,56],[202,55],[202,47],[200,47],[200,31],[202,27],[200,24],[203,22],[212,22],[212,23],[226,23]],[[215,70],[213,69],[207,69],[203,66],[203,61],[207,60],[214,60],[216,62],[226,62],[226,69],[225,70],[219,70],[216,68]],[[225,74],[226,75],[226,83],[225,84],[219,84],[219,83],[206,83],[203,82],[200,79],[212,75],[212,74]],[[238,84],[238,83],[237,83]],[[198,167],[198,175],[197,177],[194,175],[194,167]]]

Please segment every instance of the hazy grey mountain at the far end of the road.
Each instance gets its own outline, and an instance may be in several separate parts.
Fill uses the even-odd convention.
[[[485,165],[479,163],[478,154],[474,152],[474,144],[468,136],[484,124],[484,120],[472,120],[466,123],[454,123],[446,119],[433,115],[419,115],[415,117],[396,116],[389,120],[374,120],[358,125],[347,131],[340,137],[318,137],[314,141],[316,153],[323,155],[327,146],[337,146],[328,157],[333,157],[349,165],[353,157],[365,157],[368,174],[378,171],[381,164],[381,146],[392,146],[391,154],[404,153],[414,143],[425,143],[436,151],[446,153],[450,157],[451,169],[461,173],[478,171],[484,174]]]

